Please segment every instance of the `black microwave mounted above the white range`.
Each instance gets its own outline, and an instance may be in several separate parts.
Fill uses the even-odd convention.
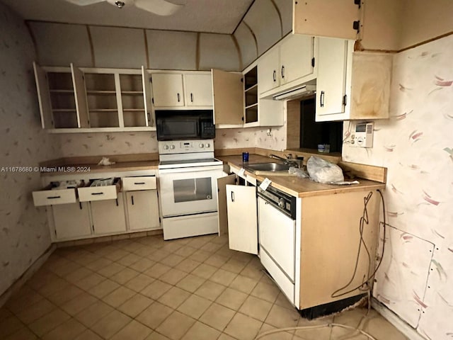
[[[212,140],[212,110],[156,110],[157,140]]]

